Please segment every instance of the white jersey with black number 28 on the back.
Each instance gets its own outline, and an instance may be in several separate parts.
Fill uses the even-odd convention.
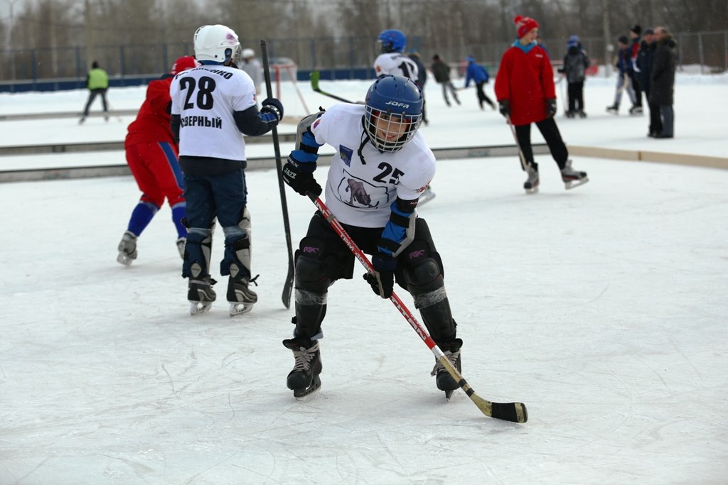
[[[235,111],[256,105],[253,80],[225,65],[182,71],[170,84],[172,114],[180,116],[180,156],[245,160],[245,141]]]

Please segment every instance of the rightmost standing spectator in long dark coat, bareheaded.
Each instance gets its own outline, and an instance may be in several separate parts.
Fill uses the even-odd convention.
[[[678,65],[677,42],[665,27],[654,29],[657,47],[652,60],[650,76],[649,103],[660,106],[662,132],[657,138],[672,138],[675,135],[673,112],[673,93],[675,90],[675,71]]]

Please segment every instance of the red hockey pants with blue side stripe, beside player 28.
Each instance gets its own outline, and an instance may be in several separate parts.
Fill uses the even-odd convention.
[[[183,177],[177,147],[172,143],[137,143],[126,149],[127,164],[132,171],[141,201],[170,207],[184,201]]]

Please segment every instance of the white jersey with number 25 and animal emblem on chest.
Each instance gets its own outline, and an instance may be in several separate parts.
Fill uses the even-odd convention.
[[[419,198],[435,175],[435,156],[421,133],[400,151],[380,152],[367,140],[363,105],[338,104],[314,121],[317,143],[331,145],[325,200],[341,223],[384,228],[392,203]]]

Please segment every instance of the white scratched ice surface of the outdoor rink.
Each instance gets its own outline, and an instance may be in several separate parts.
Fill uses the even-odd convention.
[[[357,100],[368,84],[321,87]],[[298,89],[308,108],[333,103]],[[459,95],[448,108],[427,84],[432,147],[513,144],[472,87]],[[293,398],[273,169],[247,174],[261,276],[258,303],[238,318],[222,300],[189,315],[168,207],[138,260],[116,263],[140,195],[132,177],[0,184],[0,484],[725,483],[728,171],[690,162],[728,159],[728,78],[678,75],[674,140],[646,137],[646,116],[604,111],[613,78],[590,79],[585,95],[587,119],[557,115],[572,152],[685,164],[572,153],[590,182],[566,191],[539,155],[541,190],[526,195],[515,156],[447,159],[419,210],[442,255],[462,374],[483,398],[525,403],[522,425],[483,416],[462,391],[446,401],[432,353],[360,266],[329,290],[322,388]],[[85,97],[0,95],[0,115],[80,111]],[[142,99],[109,92],[117,109]],[[310,111],[290,85],[282,100],[287,115]],[[0,146],[122,140],[131,120],[0,121]],[[123,163],[120,151],[1,156],[0,170]],[[286,196],[295,245],[314,207]]]

